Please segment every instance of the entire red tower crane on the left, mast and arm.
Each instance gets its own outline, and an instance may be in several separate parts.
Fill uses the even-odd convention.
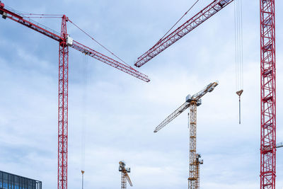
[[[10,18],[12,21],[21,23],[38,33],[42,33],[53,40],[59,42],[59,98],[58,98],[58,189],[67,189],[67,155],[68,155],[68,69],[69,69],[69,47],[83,52],[85,55],[98,59],[100,62],[120,69],[125,73],[137,77],[142,81],[149,82],[148,76],[139,71],[122,64],[115,59],[107,57],[96,50],[86,47],[69,37],[67,33],[67,16],[62,16],[61,33],[57,33],[46,26],[27,18],[22,13],[4,6],[0,1],[0,14],[2,18]]]

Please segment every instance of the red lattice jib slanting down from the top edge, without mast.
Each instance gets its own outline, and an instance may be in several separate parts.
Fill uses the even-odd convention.
[[[204,21],[207,21],[208,18],[212,17],[215,13],[219,12],[232,1],[233,0],[214,0],[211,4],[203,8],[202,11],[190,18],[190,20],[186,21],[171,34],[168,34],[163,39],[159,40],[154,47],[151,47],[151,49],[145,52],[144,55],[141,55],[134,65],[136,67],[141,67],[146,64],[146,62],[149,62],[149,60],[156,57],[156,55],[161,53],[163,50],[166,50],[166,48],[173,45],[174,42],[183,38],[183,36],[187,33],[190,33],[192,30],[197,28],[197,26],[204,23]]]

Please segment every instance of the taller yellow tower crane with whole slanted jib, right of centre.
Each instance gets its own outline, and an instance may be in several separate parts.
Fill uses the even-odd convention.
[[[200,188],[200,164],[203,164],[203,160],[200,160],[200,154],[197,154],[197,106],[202,104],[202,96],[206,93],[211,93],[218,85],[217,82],[213,82],[207,85],[202,91],[196,93],[193,96],[188,95],[185,103],[169,115],[161,124],[159,124],[154,132],[158,132],[165,127],[169,122],[175,119],[178,115],[183,113],[190,107],[190,113],[188,117],[190,119],[190,168],[189,168],[189,189]]]

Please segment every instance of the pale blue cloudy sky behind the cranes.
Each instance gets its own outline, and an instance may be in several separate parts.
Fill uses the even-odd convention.
[[[27,13],[66,14],[130,65],[154,45],[195,1],[3,1]],[[211,0],[200,2],[185,22]],[[194,94],[219,81],[197,108],[197,152],[203,189],[260,188],[260,1],[243,1],[242,123],[238,125],[233,4],[138,70],[140,81],[80,52],[69,53],[68,187],[120,188],[119,161],[132,188],[187,188],[187,112],[154,128]],[[283,142],[283,7],[276,1],[277,142]],[[59,18],[38,22],[59,31]],[[58,44],[0,19],[0,170],[57,187]],[[68,23],[68,33],[102,47]],[[83,139],[84,138],[84,139]],[[85,153],[83,153],[85,151]],[[83,156],[85,160],[83,161]],[[283,149],[277,188],[283,188]]]

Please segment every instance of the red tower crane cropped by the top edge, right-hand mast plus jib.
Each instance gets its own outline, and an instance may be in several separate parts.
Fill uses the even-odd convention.
[[[136,67],[149,62],[233,0],[214,0],[141,55]],[[260,188],[275,189],[276,177],[276,62],[275,0],[260,0]]]

